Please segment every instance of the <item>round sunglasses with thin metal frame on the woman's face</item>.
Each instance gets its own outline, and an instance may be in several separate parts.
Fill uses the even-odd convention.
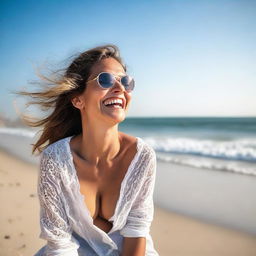
[[[115,82],[117,81],[116,77],[119,77],[119,76],[115,76],[109,72],[101,72],[94,79],[87,81],[87,83],[97,80],[98,85],[102,89],[109,89],[113,87]],[[134,89],[135,82],[131,76],[125,75],[125,76],[122,76],[119,80],[127,92],[131,92]]]

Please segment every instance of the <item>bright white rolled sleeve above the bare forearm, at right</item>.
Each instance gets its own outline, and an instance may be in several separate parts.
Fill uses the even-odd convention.
[[[125,226],[120,231],[124,237],[146,237],[149,234],[154,215],[153,192],[156,177],[156,154],[153,149],[148,161],[144,181],[132,204]]]

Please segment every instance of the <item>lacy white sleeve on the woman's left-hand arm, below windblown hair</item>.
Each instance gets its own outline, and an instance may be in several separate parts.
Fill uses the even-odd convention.
[[[47,240],[45,256],[78,256],[78,242],[64,209],[60,187],[60,167],[54,154],[42,152],[38,176],[40,238]]]

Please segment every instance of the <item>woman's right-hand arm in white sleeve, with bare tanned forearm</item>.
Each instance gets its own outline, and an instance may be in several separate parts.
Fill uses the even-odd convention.
[[[149,150],[143,184],[132,204],[126,225],[120,231],[124,236],[122,256],[145,256],[146,236],[154,215],[153,192],[156,177],[156,154]]]

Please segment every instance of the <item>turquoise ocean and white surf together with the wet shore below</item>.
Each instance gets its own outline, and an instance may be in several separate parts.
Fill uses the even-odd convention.
[[[155,149],[158,206],[256,235],[256,118],[126,118],[119,130]],[[0,147],[38,164],[36,132],[0,127]]]

